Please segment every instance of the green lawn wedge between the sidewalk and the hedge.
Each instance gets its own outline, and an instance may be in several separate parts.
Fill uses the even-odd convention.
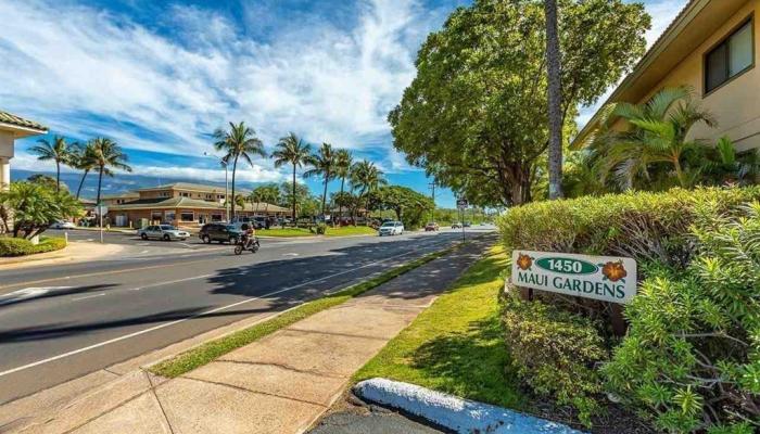
[[[468,399],[521,408],[508,367],[498,292],[507,256],[502,247],[472,265],[452,288],[355,375],[382,376]]]

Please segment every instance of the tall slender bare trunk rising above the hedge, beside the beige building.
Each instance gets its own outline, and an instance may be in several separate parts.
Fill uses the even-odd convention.
[[[560,77],[557,0],[544,0],[546,69],[548,73],[549,199],[562,197],[562,85]]]

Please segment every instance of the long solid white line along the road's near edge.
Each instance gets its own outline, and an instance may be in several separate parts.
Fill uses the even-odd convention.
[[[430,245],[432,245],[432,244],[433,244],[433,243],[430,243]],[[40,365],[49,363],[49,362],[51,362],[51,361],[60,360],[60,359],[63,359],[63,358],[66,358],[66,357],[75,356],[75,355],[80,354],[80,353],[89,352],[90,349],[100,348],[100,347],[102,347],[102,346],[110,345],[110,344],[113,344],[113,343],[116,343],[116,342],[121,342],[121,341],[125,341],[125,340],[128,340],[128,339],[131,339],[131,337],[140,336],[140,335],[142,335],[142,334],[150,333],[150,332],[154,332],[154,331],[161,330],[161,329],[165,329],[165,328],[167,328],[167,327],[176,326],[176,324],[182,323],[182,322],[185,322],[185,321],[189,321],[189,320],[191,320],[191,319],[195,319],[195,318],[199,318],[199,317],[203,317],[203,316],[205,316],[205,315],[215,314],[215,312],[218,312],[218,311],[221,311],[221,310],[227,310],[227,309],[229,309],[229,308],[231,308],[231,307],[237,307],[237,306],[240,306],[240,305],[244,305],[244,304],[254,302],[254,301],[256,301],[256,299],[266,298],[266,297],[270,297],[270,296],[273,296],[273,295],[281,294],[281,293],[283,293],[283,292],[293,291],[293,290],[296,290],[296,289],[299,289],[299,288],[305,286],[305,285],[307,285],[307,284],[321,282],[321,281],[325,281],[325,280],[328,280],[328,279],[332,279],[332,278],[338,277],[338,276],[346,275],[346,273],[349,273],[349,272],[354,272],[354,271],[356,271],[356,270],[358,270],[358,269],[362,269],[362,268],[367,268],[367,267],[371,267],[371,266],[373,266],[373,265],[382,264],[382,263],[389,261],[389,260],[391,260],[391,259],[397,259],[397,258],[400,258],[400,257],[404,257],[404,256],[410,255],[410,254],[417,252],[418,250],[420,250],[420,248],[416,248],[416,250],[414,250],[414,251],[409,251],[409,252],[404,253],[404,254],[402,254],[402,255],[392,256],[392,257],[389,257],[389,258],[385,258],[385,259],[376,260],[376,261],[373,261],[373,263],[365,264],[365,265],[363,265],[363,266],[360,266],[360,267],[352,268],[352,269],[350,269],[350,270],[340,271],[340,272],[337,272],[337,273],[333,273],[333,275],[325,276],[325,277],[322,277],[322,278],[315,279],[315,280],[312,280],[312,281],[308,281],[308,282],[299,283],[299,284],[296,284],[296,285],[288,286],[288,288],[284,288],[284,289],[282,289],[282,290],[273,291],[273,292],[270,292],[270,293],[268,293],[268,294],[263,294],[263,295],[259,295],[259,296],[256,296],[256,297],[246,298],[246,299],[243,299],[243,301],[241,301],[241,302],[237,302],[237,303],[232,303],[232,304],[229,304],[229,305],[226,305],[226,306],[221,306],[221,307],[217,307],[217,308],[214,308],[214,309],[205,310],[205,311],[202,311],[202,312],[200,312],[200,314],[191,315],[191,316],[189,316],[189,317],[185,317],[185,318],[181,318],[181,319],[178,319],[178,320],[174,320],[174,321],[170,321],[170,322],[165,322],[165,323],[163,323],[163,324],[154,326],[154,327],[151,327],[151,328],[148,328],[148,329],[144,329],[144,330],[140,330],[140,331],[134,332],[134,333],[129,333],[129,334],[125,334],[125,335],[122,335],[122,336],[118,336],[118,337],[114,337],[114,339],[111,339],[111,340],[107,340],[107,341],[99,342],[99,343],[97,343],[97,344],[92,344],[92,345],[89,345],[89,346],[86,346],[86,347],[83,347],[83,348],[74,349],[74,350],[71,350],[71,352],[68,352],[68,353],[59,354],[58,356],[49,357],[49,358],[47,358],[47,359],[37,360],[37,361],[31,362],[31,363],[28,363],[28,365],[24,365],[24,366],[20,366],[20,367],[16,367],[16,368],[12,368],[12,369],[2,371],[2,372],[0,372],[0,376],[10,375],[10,374],[12,374],[12,373],[20,372],[20,371],[24,371],[24,370],[29,369],[29,368],[38,367],[38,366],[40,366]]]

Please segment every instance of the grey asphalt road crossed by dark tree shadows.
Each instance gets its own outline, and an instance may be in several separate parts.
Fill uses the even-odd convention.
[[[382,239],[266,239],[255,255],[167,246],[161,257],[2,271],[0,404],[292,307],[460,239],[446,230]]]

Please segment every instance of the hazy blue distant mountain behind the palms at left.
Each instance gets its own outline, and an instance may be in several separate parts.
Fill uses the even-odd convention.
[[[55,173],[49,173],[49,171],[33,171],[33,170],[22,170],[22,169],[12,169],[11,170],[11,180],[12,181],[21,181],[25,180],[31,175],[36,174],[43,174],[48,175],[52,178],[55,178]],[[81,180],[81,174],[61,174],[61,181],[64,182],[71,192],[76,192],[76,189],[79,187],[79,181]],[[189,179],[189,178],[159,178],[159,177],[150,177],[150,176],[142,176],[142,175],[131,175],[131,174],[118,174],[114,176],[113,178],[111,177],[103,177],[103,186],[101,189],[101,194],[115,194],[115,193],[123,193],[125,191],[131,191],[136,189],[142,189],[145,187],[154,187],[154,186],[161,186],[164,183],[172,183],[172,182],[194,182],[194,183],[203,183],[203,184],[208,184],[208,186],[218,186],[218,187],[225,187],[224,182],[211,182],[211,181],[204,181],[204,180],[198,180],[198,179]],[[238,189],[252,189],[256,184],[252,182],[236,182],[236,187]],[[87,176],[87,180],[85,180],[85,186],[81,188],[81,197],[84,199],[92,199],[94,200],[96,196],[98,195],[98,174],[89,174]]]

